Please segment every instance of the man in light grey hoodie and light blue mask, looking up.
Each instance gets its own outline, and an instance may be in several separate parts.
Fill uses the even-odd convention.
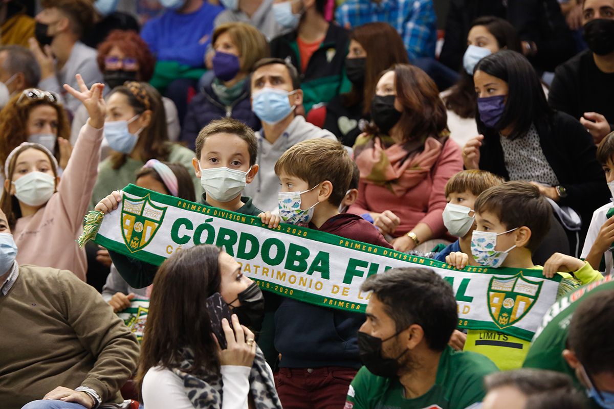
[[[254,66],[251,79],[252,110],[262,121],[256,132],[260,168],[252,183],[244,189],[254,205],[262,210],[278,207],[279,178],[275,162],[285,151],[307,139],[335,135],[305,121],[296,110],[303,104],[297,69],[281,58],[263,58]]]

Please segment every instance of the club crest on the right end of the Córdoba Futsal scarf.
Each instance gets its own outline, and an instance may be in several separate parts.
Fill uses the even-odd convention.
[[[535,304],[543,281],[529,281],[520,272],[512,277],[492,277],[488,285],[488,310],[500,329],[518,323]]]

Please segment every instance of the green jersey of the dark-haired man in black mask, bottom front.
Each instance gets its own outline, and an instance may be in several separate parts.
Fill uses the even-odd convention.
[[[349,387],[344,409],[465,409],[481,402],[483,378],[497,370],[481,354],[456,352],[446,346],[432,388],[422,396],[405,399],[398,378],[378,377],[362,367]]]

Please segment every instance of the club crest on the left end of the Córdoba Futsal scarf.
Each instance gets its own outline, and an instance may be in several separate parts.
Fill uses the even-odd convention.
[[[122,201],[122,235],[130,253],[146,247],[162,224],[166,207],[158,207],[149,200],[149,194],[142,199]]]

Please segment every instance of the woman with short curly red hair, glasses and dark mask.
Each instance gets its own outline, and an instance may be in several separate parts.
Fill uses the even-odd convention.
[[[103,73],[104,82],[108,85],[105,91],[111,91],[126,81],[149,82],[153,75],[155,58],[147,47],[147,43],[135,31],[114,30],[98,45],[98,67]],[[177,117],[177,108],[170,99],[163,97],[162,102],[166,113],[166,126],[168,139],[175,141],[179,138],[181,127]],[[79,130],[87,121],[87,111],[79,108],[72,120],[71,143],[74,144],[79,136]],[[108,148],[103,141],[103,156]]]

